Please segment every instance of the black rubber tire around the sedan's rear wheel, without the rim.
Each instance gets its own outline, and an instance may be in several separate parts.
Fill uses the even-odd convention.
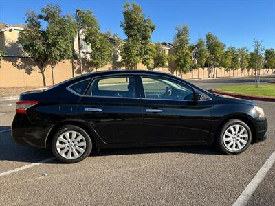
[[[80,157],[78,157],[76,159],[67,159],[65,157],[62,157],[58,153],[58,150],[56,148],[56,142],[58,140],[58,137],[62,133],[64,133],[65,131],[75,131],[75,132],[80,133],[81,135],[83,135],[83,137],[85,138],[85,141],[86,141],[85,152],[83,152],[83,155],[81,155]],[[51,148],[52,148],[52,153],[54,154],[54,156],[58,160],[62,161],[63,163],[77,163],[77,162],[82,161],[83,159],[85,159],[87,156],[89,156],[89,154],[91,153],[91,149],[92,149],[92,142],[91,142],[91,138],[89,137],[87,132],[85,130],[83,130],[83,128],[80,128],[79,126],[74,126],[74,125],[65,125],[62,128],[60,128],[56,132],[54,137],[52,138]]]

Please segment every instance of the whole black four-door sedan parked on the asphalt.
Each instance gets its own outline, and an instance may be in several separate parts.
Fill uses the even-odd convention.
[[[155,71],[101,71],[20,95],[18,144],[76,163],[95,148],[215,144],[228,155],[267,138],[253,102],[225,98]]]

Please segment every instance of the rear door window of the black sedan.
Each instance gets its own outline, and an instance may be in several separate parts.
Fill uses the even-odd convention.
[[[91,95],[100,97],[136,98],[133,76],[98,78],[91,84]]]

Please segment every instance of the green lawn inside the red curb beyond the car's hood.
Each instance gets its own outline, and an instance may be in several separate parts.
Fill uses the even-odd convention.
[[[260,85],[256,88],[254,85],[242,85],[242,86],[228,86],[228,87],[219,87],[219,91],[231,92],[231,93],[240,93],[246,95],[255,95],[255,96],[265,96],[275,98],[275,84],[272,85]]]

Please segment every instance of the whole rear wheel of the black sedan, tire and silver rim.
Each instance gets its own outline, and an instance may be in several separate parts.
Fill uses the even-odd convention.
[[[91,153],[92,143],[83,128],[65,125],[54,135],[51,148],[54,156],[63,163],[77,163]]]

